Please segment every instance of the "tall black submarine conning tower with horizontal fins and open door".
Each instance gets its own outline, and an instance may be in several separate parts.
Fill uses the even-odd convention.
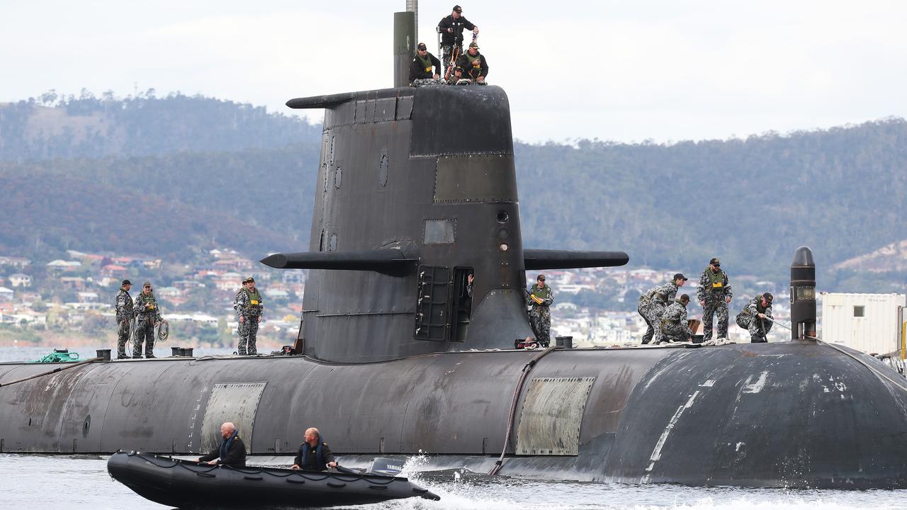
[[[324,108],[297,351],[374,361],[532,336],[526,270],[615,266],[623,252],[524,250],[507,94],[396,87],[293,99]],[[472,293],[467,290],[474,275]]]

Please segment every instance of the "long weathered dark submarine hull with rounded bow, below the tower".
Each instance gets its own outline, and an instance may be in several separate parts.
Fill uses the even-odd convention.
[[[366,364],[305,357],[96,362],[0,387],[4,452],[252,455],[318,427],[343,456],[488,466],[539,351]],[[907,384],[814,343],[554,350],[519,390],[501,474],[683,485],[907,488]],[[0,365],[0,384],[48,370]],[[440,467],[440,466],[439,466]]]

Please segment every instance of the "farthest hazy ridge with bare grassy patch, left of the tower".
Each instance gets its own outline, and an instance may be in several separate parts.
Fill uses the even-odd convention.
[[[0,104],[0,160],[235,152],[317,141],[321,126],[264,107],[153,89],[125,99],[53,91]]]

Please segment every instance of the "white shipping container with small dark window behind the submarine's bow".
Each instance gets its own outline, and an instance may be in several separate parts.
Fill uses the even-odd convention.
[[[868,354],[891,354],[901,348],[903,294],[823,292],[819,338]]]

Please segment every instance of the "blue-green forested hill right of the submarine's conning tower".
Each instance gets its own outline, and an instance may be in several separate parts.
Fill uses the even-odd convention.
[[[517,150],[524,236],[627,250],[636,264],[784,281],[801,244],[828,268],[907,239],[907,123],[672,145]]]

